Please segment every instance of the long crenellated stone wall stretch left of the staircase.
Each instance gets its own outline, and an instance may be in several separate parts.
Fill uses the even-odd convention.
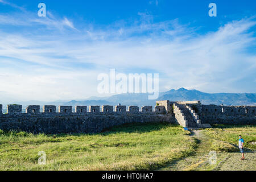
[[[101,108],[101,109],[100,109]],[[32,133],[98,133],[109,127],[134,122],[170,122],[175,123],[173,115],[167,115],[164,106],[40,106],[30,105],[22,113],[21,105],[7,105],[7,113],[2,113],[0,105],[0,129],[18,130]]]

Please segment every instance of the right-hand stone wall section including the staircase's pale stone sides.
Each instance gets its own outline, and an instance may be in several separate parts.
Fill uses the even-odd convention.
[[[256,106],[218,106],[203,105],[200,101],[170,102],[157,101],[158,105],[166,107],[168,113],[175,114],[175,120],[181,126],[188,127],[188,117],[180,105],[185,105],[191,113],[197,127],[208,127],[206,124],[246,125],[256,124]]]

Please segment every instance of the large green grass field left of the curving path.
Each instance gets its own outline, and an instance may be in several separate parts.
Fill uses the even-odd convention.
[[[0,131],[0,170],[148,170],[192,154],[189,131],[168,123],[133,123],[100,134],[34,135]],[[39,165],[39,151],[46,165]]]

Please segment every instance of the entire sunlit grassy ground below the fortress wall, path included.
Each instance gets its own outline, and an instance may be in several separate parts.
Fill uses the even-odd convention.
[[[0,170],[256,170],[255,126],[215,125],[190,134],[168,123],[131,123],[99,134],[0,130]],[[238,135],[245,139],[243,161]],[[38,164],[39,151],[45,165]],[[217,152],[214,165],[210,151]]]

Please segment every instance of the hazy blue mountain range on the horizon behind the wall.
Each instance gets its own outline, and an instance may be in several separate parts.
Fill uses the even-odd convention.
[[[256,105],[255,93],[204,93],[198,90],[187,90],[180,88],[172,89],[167,92],[159,93],[159,100],[170,101],[201,101],[202,104],[215,105]],[[118,94],[111,97],[90,97],[84,101],[26,101],[15,104],[23,105],[137,105],[137,106],[154,106],[156,100],[148,100],[148,94]],[[5,108],[5,106],[3,106]]]

